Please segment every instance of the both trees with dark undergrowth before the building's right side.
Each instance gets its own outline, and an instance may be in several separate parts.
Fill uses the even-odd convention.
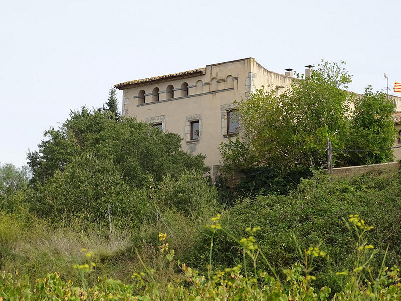
[[[344,64],[322,62],[281,94],[266,87],[238,103],[241,131],[221,144],[225,173],[247,175],[238,194],[288,193],[311,168],[326,166],[327,139],[335,167],[393,160],[391,149],[343,152],[389,148],[395,139],[394,103],[370,86],[363,95],[348,92]]]

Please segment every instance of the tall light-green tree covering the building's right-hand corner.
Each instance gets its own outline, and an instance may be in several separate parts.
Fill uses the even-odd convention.
[[[343,148],[346,142],[350,81],[342,65],[323,62],[310,77],[294,80],[291,89],[280,95],[260,89],[240,102],[242,132],[235,141],[221,145],[226,169],[323,166],[327,137],[333,148]]]

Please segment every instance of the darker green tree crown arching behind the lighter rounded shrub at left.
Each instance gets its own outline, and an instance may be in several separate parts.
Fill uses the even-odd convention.
[[[110,160],[132,187],[160,182],[167,174],[178,177],[185,171],[208,171],[204,156],[190,156],[181,150],[181,138],[165,133],[134,118],[110,119],[107,112],[71,112],[60,128],[50,128],[39,150],[29,152],[32,183],[44,184],[56,171],[82,154]]]

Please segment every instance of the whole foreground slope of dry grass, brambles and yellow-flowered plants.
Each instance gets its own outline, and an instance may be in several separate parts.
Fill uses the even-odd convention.
[[[334,181],[316,175],[301,186],[289,197],[244,200],[203,221],[177,221],[165,212],[153,229],[136,235],[119,229],[114,240],[94,228],[86,234],[54,230],[3,214],[2,268],[11,273],[0,278],[1,294],[24,300],[397,300],[399,269],[385,266],[400,259],[399,175]],[[355,210],[365,221],[352,214],[341,219]],[[50,270],[60,274],[27,277]]]

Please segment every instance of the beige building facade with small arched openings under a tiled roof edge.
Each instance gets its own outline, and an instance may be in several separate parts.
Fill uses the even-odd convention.
[[[238,130],[236,102],[262,86],[279,94],[291,86],[292,79],[291,69],[279,74],[265,69],[254,58],[246,58],[115,87],[123,91],[123,115],[181,135],[182,149],[206,155],[205,163],[215,176],[221,159],[219,145]],[[401,111],[401,98],[392,98]]]

